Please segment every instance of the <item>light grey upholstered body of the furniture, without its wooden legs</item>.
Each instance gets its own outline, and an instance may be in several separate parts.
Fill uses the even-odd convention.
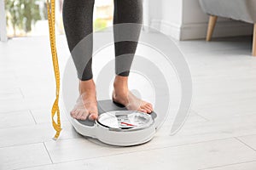
[[[207,14],[256,23],[256,0],[200,0]]]

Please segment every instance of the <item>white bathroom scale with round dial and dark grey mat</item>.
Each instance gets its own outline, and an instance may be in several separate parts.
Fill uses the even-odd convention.
[[[129,146],[143,144],[154,137],[156,114],[127,111],[125,106],[112,100],[98,101],[99,116],[96,121],[73,119],[75,130],[83,136],[98,139],[105,144]]]

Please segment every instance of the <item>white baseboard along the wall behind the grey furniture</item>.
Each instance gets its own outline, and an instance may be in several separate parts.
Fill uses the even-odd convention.
[[[201,39],[207,36],[208,23],[183,24],[179,26],[165,20],[151,20],[150,27],[177,40]],[[236,20],[218,21],[212,37],[236,37],[253,35],[253,24]]]

